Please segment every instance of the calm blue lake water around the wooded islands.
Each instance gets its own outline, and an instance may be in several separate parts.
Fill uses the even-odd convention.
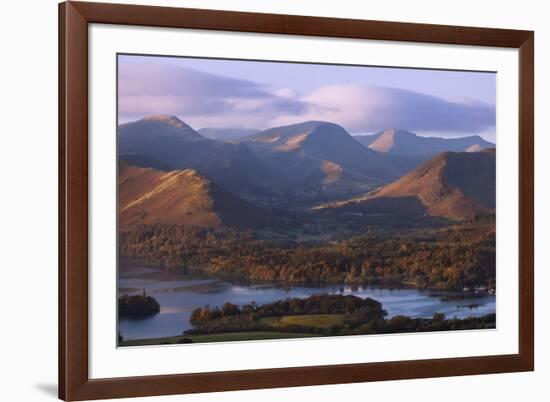
[[[461,295],[462,292],[426,291],[416,289],[379,289],[361,286],[273,286],[235,284],[224,280],[167,273],[150,268],[121,267],[119,293],[136,294],[145,289],[160,304],[160,313],[146,319],[119,322],[124,339],[160,338],[181,335],[189,328],[189,316],[197,307],[221,306],[231,302],[237,305],[256,302],[258,305],[286,298],[304,298],[312,294],[334,293],[372,297],[382,303],[388,317],[407,315],[429,318],[434,313],[444,313],[448,318],[480,316],[495,312],[495,296],[472,296],[460,300],[442,300],[444,296]],[[478,304],[476,308],[468,305]],[[462,307],[461,307],[462,306]]]

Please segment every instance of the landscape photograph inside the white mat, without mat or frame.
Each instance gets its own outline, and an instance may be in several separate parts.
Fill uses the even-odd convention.
[[[496,328],[496,74],[117,55],[119,346]]]

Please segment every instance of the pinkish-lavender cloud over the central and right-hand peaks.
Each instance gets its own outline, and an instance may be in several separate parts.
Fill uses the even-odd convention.
[[[442,133],[479,133],[495,126],[495,108],[471,99],[447,100],[397,88],[334,85],[303,97],[323,107],[305,120],[338,122],[353,132],[386,128]],[[275,123],[294,123],[295,116],[280,116]]]

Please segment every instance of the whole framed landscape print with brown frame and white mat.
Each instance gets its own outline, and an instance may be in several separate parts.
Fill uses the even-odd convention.
[[[533,370],[533,32],[59,10],[60,398]]]

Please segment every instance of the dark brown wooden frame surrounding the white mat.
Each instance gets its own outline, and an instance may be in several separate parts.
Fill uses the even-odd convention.
[[[106,23],[519,49],[519,353],[89,379],[88,24]],[[59,397],[276,388],[534,370],[534,33],[508,29],[66,2],[59,5]]]

